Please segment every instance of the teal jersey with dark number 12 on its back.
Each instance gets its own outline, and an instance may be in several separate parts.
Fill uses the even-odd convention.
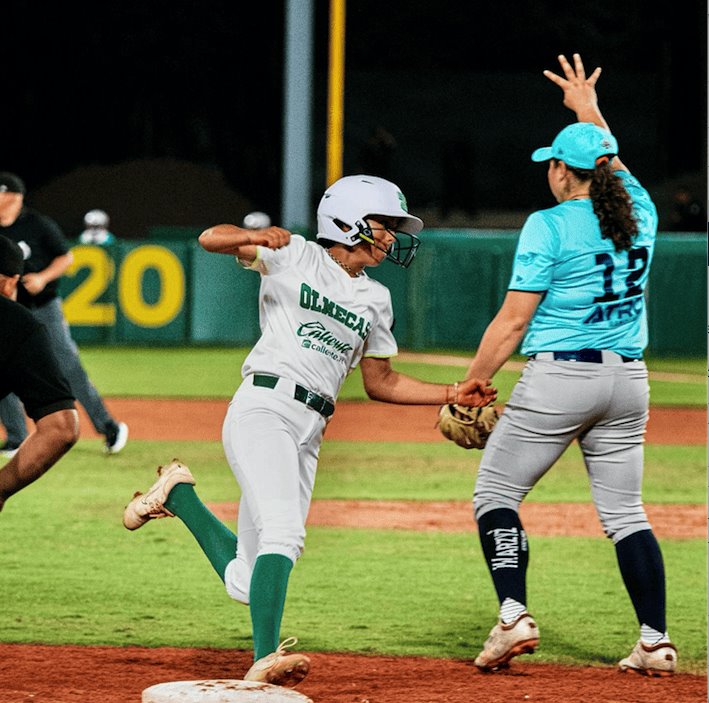
[[[616,171],[633,201],[638,235],[628,251],[601,236],[590,199],[568,200],[529,216],[509,290],[542,293],[522,342],[523,354],[608,349],[640,357],[647,346],[645,286],[657,234],[648,192]]]

